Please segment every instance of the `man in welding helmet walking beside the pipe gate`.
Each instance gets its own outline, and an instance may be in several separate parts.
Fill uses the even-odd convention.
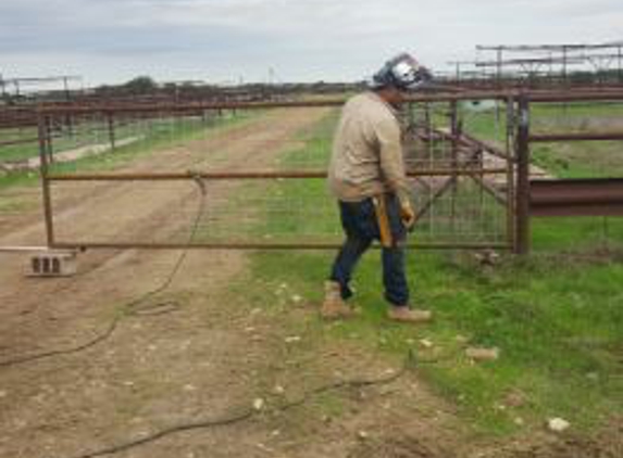
[[[388,317],[397,321],[431,319],[427,310],[409,305],[404,271],[407,231],[415,222],[404,174],[398,107],[406,94],[429,78],[409,54],[388,61],[371,90],[344,106],[334,139],[328,181],[337,198],[346,240],[325,283],[323,318],[348,318],[352,271],[376,239],[382,244],[383,283]]]

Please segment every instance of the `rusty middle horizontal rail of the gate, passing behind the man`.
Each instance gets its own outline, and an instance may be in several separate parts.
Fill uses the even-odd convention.
[[[409,177],[443,177],[506,174],[506,168],[437,168],[409,171]],[[296,179],[326,178],[326,170],[266,170],[266,171],[179,171],[179,173],[121,173],[121,174],[48,174],[49,181],[161,181],[161,180],[229,180],[229,179]]]

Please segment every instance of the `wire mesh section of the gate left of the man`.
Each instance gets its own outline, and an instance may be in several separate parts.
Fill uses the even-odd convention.
[[[51,166],[65,178],[52,186],[55,240],[76,245],[337,242],[335,204],[322,176],[225,179],[237,171],[325,170],[336,119],[337,111],[325,107],[135,119],[139,140],[132,145]],[[102,169],[142,178],[171,171],[188,176],[71,180]],[[200,174],[213,175],[194,179]],[[71,204],[83,196],[88,206]]]

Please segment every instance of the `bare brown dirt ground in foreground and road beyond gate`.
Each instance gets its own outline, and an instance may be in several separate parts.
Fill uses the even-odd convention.
[[[322,115],[276,111],[216,135],[211,147],[226,153],[228,166],[251,158],[261,165]],[[127,169],[187,169],[205,161],[201,142],[190,142]],[[223,198],[232,189],[210,191]],[[37,194],[12,192],[24,200],[24,209],[0,220],[0,245],[42,244]],[[190,192],[149,199],[134,188],[98,185],[64,196],[58,218],[71,217],[67,237],[98,230],[101,222],[86,217],[94,213],[113,233],[166,236],[179,229],[171,208]],[[137,206],[147,215],[138,227],[132,217]],[[87,252],[79,256],[79,275],[42,280],[24,276],[23,256],[0,254],[0,457],[623,456],[621,441],[613,438],[623,436],[621,423],[590,440],[543,433],[512,443],[479,442],[416,370],[400,372],[402,361],[291,335],[288,320],[315,319],[313,305],[303,301],[275,321],[261,304],[233,294],[230,284],[247,268],[239,252],[189,252],[169,288],[147,301],[175,301],[169,313],[123,316],[108,339],[80,352],[2,365],[91,341],[124,304],[161,285],[179,255]],[[365,383],[372,379],[387,382]],[[359,382],[328,386],[344,380]],[[302,402],[306,393],[313,394]],[[204,424],[235,417],[240,421]],[[112,455],[98,453],[176,425],[182,430]]]

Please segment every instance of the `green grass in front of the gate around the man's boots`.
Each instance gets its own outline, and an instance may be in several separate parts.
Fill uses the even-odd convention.
[[[320,304],[332,257],[257,254],[250,288],[275,291],[285,282]],[[328,334],[397,356],[414,348],[422,360],[438,359],[422,364],[420,373],[485,433],[514,432],[520,429],[518,418],[536,428],[552,416],[582,430],[622,411],[623,266],[561,267],[560,262],[535,258],[507,260],[487,272],[451,255],[414,252],[409,255],[409,273],[413,302],[433,309],[435,323],[411,328],[385,319],[378,253],[371,252],[356,276],[354,301],[362,317],[337,326],[317,320],[290,323],[292,332],[308,341]],[[262,303],[278,304],[265,295]],[[438,353],[419,349],[421,339],[431,340]],[[472,365],[463,356],[463,340],[497,346],[501,358]],[[516,392],[523,404],[506,405]]]

